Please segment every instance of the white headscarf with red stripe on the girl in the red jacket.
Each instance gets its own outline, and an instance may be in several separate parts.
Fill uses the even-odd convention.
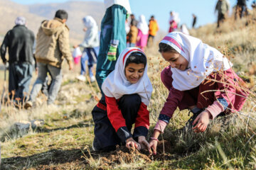
[[[132,52],[142,52],[142,50],[137,47],[127,47],[122,51],[115,64],[114,70],[103,82],[102,91],[105,96],[114,97],[116,99],[121,98],[124,94],[139,94],[142,98],[142,102],[148,106],[153,88],[147,75],[147,64],[143,76],[136,84],[131,84],[124,75],[124,67],[127,58]],[[144,52],[142,53],[144,54]]]

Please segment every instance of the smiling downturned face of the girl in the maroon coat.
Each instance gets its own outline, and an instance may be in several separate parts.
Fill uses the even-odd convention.
[[[161,52],[164,60],[170,63],[171,68],[184,71],[188,68],[188,60],[176,52]]]

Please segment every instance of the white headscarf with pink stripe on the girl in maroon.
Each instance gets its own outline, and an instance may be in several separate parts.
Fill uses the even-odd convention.
[[[172,85],[179,91],[193,89],[199,86],[212,72],[217,72],[220,69],[225,71],[232,67],[232,63],[223,54],[204,44],[198,38],[172,32],[166,35],[161,42],[170,45],[188,60],[188,69],[185,71],[171,68],[174,79]]]

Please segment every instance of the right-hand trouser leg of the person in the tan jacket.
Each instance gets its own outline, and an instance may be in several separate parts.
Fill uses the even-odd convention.
[[[58,91],[60,90],[62,70],[49,64],[47,65],[47,68],[50,72],[50,76],[52,77],[52,83],[50,84],[49,96],[47,100],[47,104],[49,105],[55,101]]]

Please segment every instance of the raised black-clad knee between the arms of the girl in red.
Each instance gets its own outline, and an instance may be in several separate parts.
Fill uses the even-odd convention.
[[[131,131],[132,125],[135,123],[141,103],[142,98],[138,94],[126,94],[118,102],[129,131]]]

